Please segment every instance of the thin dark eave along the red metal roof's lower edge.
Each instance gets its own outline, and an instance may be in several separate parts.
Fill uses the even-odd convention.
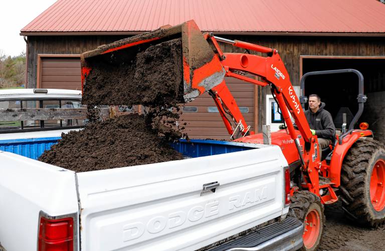
[[[148,31],[127,32],[21,32],[20,36],[91,36],[91,35],[137,35]],[[215,31],[216,35],[253,35],[253,36],[326,36],[326,37],[385,37],[384,33],[363,32],[234,32]]]

